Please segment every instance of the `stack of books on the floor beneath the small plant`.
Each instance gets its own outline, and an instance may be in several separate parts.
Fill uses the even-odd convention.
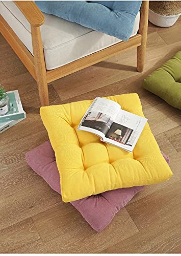
[[[9,96],[10,110],[6,115],[0,116],[0,133],[5,132],[16,123],[26,118],[17,90],[7,92]]]

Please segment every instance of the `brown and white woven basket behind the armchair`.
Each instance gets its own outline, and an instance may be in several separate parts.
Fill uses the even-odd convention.
[[[149,21],[158,27],[171,27],[181,14],[181,1],[149,1]]]

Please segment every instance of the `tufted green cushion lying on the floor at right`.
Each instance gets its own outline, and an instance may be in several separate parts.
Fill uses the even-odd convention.
[[[143,87],[181,109],[181,51],[147,76]]]

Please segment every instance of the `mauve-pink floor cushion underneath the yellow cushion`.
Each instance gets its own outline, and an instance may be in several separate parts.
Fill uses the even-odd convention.
[[[163,153],[162,153],[163,154]],[[169,164],[170,159],[163,154]],[[55,154],[48,141],[29,151],[25,158],[30,167],[40,175],[47,184],[61,195],[60,176]],[[114,218],[115,214],[124,207],[140,190],[140,187],[120,188],[105,193],[70,202],[91,225],[100,231]]]

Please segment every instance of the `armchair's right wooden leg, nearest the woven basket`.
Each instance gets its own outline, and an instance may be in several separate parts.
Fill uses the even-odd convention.
[[[138,33],[142,35],[141,46],[137,48],[137,71],[142,72],[145,63],[146,41],[148,30],[148,1],[143,1],[140,9],[140,27]]]

